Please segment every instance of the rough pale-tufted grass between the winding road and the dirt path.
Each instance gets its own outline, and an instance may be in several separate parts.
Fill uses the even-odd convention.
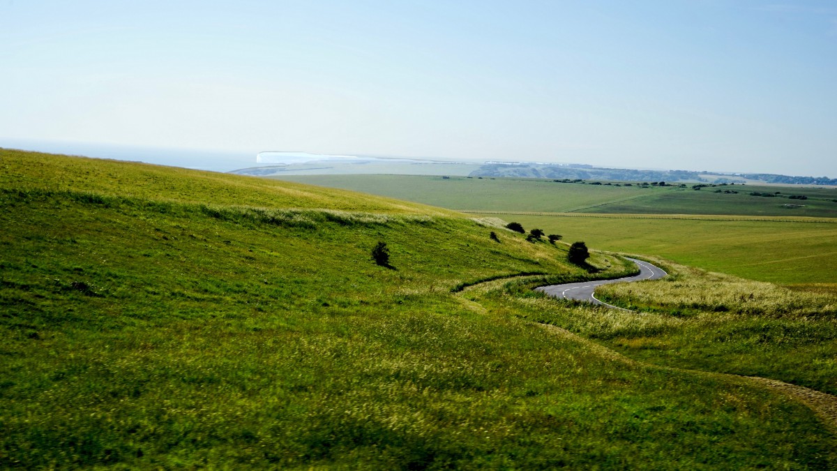
[[[798,291],[668,263],[655,282],[599,287],[636,310],[540,304],[540,322],[597,339],[635,360],[762,376],[837,394],[837,292]]]

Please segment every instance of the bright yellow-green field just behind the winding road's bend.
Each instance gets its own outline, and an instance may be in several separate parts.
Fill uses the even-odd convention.
[[[837,224],[745,218],[658,219],[503,215],[564,240],[627,253],[654,254],[692,267],[763,282],[834,283]]]

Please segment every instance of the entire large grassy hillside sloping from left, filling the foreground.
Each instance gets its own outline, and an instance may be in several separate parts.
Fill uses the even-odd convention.
[[[9,150],[0,202],[3,468],[837,464],[792,397],[531,322],[592,275],[490,220]]]

